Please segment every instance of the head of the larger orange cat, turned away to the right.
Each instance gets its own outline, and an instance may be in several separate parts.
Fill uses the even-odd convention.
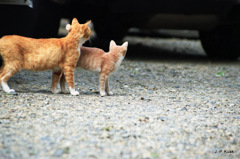
[[[76,32],[80,34],[81,38],[84,38],[87,41],[91,36],[91,29],[89,27],[91,21],[86,22],[85,24],[79,24],[76,18],[73,18],[72,25],[67,24],[66,29],[69,33]]]

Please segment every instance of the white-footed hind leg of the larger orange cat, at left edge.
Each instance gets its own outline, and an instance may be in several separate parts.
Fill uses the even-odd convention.
[[[6,93],[15,93],[14,89],[11,89],[8,84],[7,81],[9,80],[10,77],[12,77],[13,75],[15,75],[19,70],[18,70],[18,65],[16,64],[11,64],[11,65],[5,65],[2,69],[1,69],[1,74],[0,74],[0,82],[2,85],[3,90]]]

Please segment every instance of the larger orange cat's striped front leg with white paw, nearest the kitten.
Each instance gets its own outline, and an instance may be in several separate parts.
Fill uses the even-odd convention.
[[[74,68],[64,67],[64,75],[68,83],[69,91],[72,95],[79,95],[79,92],[74,88]]]

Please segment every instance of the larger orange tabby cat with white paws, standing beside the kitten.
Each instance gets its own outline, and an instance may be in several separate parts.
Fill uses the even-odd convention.
[[[4,61],[0,69],[0,83],[7,93],[14,93],[7,81],[20,70],[53,70],[52,92],[55,82],[64,72],[72,95],[79,93],[74,88],[74,69],[79,58],[79,48],[89,39],[90,21],[79,24],[72,20],[72,31],[64,38],[33,39],[17,35],[0,39],[0,54]]]

